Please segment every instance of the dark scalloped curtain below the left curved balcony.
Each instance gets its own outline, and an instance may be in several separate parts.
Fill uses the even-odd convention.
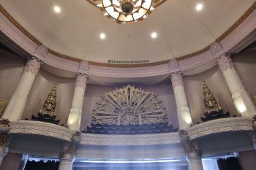
[[[25,170],[58,170],[59,161],[28,161]]]

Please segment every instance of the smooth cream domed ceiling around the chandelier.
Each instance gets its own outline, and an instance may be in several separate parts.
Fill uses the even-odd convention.
[[[72,58],[149,62],[178,58],[210,45],[254,0],[167,0],[137,23],[118,24],[87,0],[0,0],[2,7],[50,50]],[[195,9],[198,3],[203,9]],[[54,12],[59,6],[61,11]],[[157,38],[151,38],[155,32]],[[104,33],[105,39],[99,35]]]

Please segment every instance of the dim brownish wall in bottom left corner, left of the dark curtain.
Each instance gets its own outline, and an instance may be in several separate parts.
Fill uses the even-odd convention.
[[[18,170],[22,154],[9,152],[4,158],[0,170]]]

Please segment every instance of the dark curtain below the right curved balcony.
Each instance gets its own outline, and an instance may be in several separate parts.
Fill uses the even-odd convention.
[[[238,158],[236,157],[219,158],[217,163],[219,170],[242,170]]]

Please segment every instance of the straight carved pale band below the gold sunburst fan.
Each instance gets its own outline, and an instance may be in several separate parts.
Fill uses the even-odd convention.
[[[140,135],[81,134],[80,144],[104,146],[141,146],[181,143],[178,132]]]

